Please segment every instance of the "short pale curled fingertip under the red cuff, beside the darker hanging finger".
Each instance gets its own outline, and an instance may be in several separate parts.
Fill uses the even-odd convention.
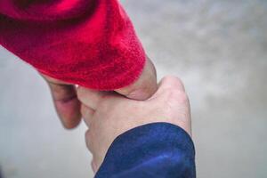
[[[105,95],[107,95],[107,93],[94,91],[82,86],[77,88],[78,100],[85,104],[88,108],[94,110],[97,109],[97,106]]]

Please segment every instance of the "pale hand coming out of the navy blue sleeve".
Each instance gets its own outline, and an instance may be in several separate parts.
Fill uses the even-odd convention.
[[[115,138],[126,131],[155,122],[179,125],[191,134],[190,103],[182,82],[165,77],[157,93],[147,101],[126,99],[116,93],[97,92],[79,87],[81,113],[89,130],[85,134],[87,148],[93,154],[96,172]]]

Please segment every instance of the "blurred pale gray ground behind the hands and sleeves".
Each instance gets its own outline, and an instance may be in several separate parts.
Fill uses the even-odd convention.
[[[123,0],[158,76],[190,95],[198,178],[267,177],[267,1]],[[0,48],[4,178],[93,177],[36,71]]]

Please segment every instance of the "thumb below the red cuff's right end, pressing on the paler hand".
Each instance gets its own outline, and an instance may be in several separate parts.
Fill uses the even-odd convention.
[[[157,73],[152,61],[147,58],[141,76],[132,85],[115,90],[117,93],[134,100],[149,99],[158,89]]]

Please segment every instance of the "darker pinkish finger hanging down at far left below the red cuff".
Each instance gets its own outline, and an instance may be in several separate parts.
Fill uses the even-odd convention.
[[[53,103],[62,125],[71,129],[76,127],[80,120],[80,101],[77,100],[76,88],[74,85],[59,85],[48,81],[53,95]]]

